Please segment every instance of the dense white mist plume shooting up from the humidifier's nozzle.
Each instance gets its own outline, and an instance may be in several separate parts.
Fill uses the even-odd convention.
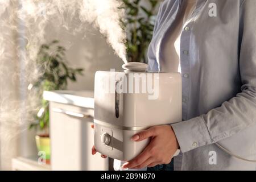
[[[80,12],[82,22],[94,23],[100,28],[100,32],[106,35],[109,44],[113,47],[115,53],[125,62],[126,34],[120,26],[119,20],[124,16],[121,7],[121,1],[117,0],[84,0]]]

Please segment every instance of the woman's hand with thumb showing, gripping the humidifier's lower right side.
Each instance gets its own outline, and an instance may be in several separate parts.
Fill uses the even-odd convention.
[[[154,126],[134,135],[131,140],[139,142],[151,137],[151,141],[143,152],[133,160],[123,164],[123,168],[140,169],[168,164],[179,148],[174,130],[170,125]]]

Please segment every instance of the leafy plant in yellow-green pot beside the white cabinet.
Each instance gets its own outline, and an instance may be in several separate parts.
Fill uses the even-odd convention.
[[[58,40],[53,40],[49,44],[43,44],[38,52],[36,63],[39,72],[42,74],[28,86],[28,89],[34,89],[42,98],[43,91],[64,90],[67,89],[68,80],[76,81],[76,75],[82,75],[82,68],[73,69],[68,66],[65,59],[66,49],[59,46]],[[41,100],[41,107],[35,114],[34,123],[30,124],[30,129],[38,130],[36,135],[36,146],[38,151],[43,151],[46,155],[46,162],[50,159],[50,138],[49,138],[49,103]]]

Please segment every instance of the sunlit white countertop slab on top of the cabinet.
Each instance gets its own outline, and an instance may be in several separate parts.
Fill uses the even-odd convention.
[[[93,96],[92,91],[55,90],[43,93],[44,100],[90,109],[94,108]]]

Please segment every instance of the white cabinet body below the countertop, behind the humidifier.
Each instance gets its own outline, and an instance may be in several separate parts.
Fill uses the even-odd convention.
[[[92,155],[93,109],[50,101],[52,170],[108,170],[109,160]]]

